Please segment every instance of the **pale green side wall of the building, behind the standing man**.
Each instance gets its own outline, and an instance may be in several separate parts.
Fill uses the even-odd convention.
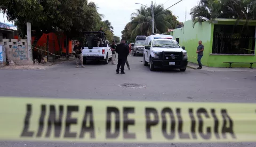
[[[193,22],[189,20],[184,23],[183,28],[178,28],[173,31],[173,38],[180,38],[180,45],[186,47],[189,62],[197,63],[196,51],[198,41],[202,40],[204,56],[201,61],[204,66],[209,66],[209,55],[212,51],[212,36],[213,25],[209,22],[203,22],[203,25],[197,23],[193,28]]]

